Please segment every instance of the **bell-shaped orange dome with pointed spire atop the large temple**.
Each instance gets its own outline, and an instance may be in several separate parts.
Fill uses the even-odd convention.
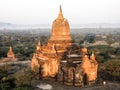
[[[50,40],[51,41],[56,41],[56,40],[71,41],[69,23],[67,19],[63,17],[61,6],[60,6],[58,17],[53,21],[53,24],[52,24],[52,34],[51,34]]]

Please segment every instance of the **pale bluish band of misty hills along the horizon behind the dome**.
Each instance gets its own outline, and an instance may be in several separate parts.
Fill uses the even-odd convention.
[[[120,28],[119,23],[88,23],[88,24],[70,24],[71,29],[79,28]],[[33,25],[17,25],[13,23],[0,22],[0,29],[52,29],[51,24],[33,24]]]

